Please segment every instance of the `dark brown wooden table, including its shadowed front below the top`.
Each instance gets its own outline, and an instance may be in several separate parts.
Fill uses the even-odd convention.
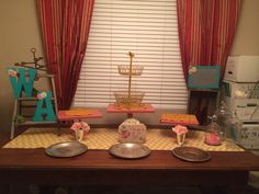
[[[75,158],[60,159],[46,156],[43,148],[4,148],[0,149],[0,184],[217,186],[226,193],[241,194],[249,170],[259,170],[259,158],[248,151],[211,155],[210,161],[194,163],[165,150],[154,150],[144,159],[125,160],[106,150],[88,150]]]

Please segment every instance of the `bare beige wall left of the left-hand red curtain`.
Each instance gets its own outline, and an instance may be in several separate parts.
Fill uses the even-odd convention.
[[[30,49],[43,56],[35,0],[0,1],[0,133],[10,132],[13,94],[5,68],[32,61]]]

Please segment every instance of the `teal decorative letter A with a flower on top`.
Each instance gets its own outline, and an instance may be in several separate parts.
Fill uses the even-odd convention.
[[[45,115],[45,121],[56,121],[56,115],[53,110],[52,104],[52,92],[38,92],[37,93],[37,107],[33,117],[33,122],[44,121],[43,115]],[[45,104],[44,104],[45,103]]]

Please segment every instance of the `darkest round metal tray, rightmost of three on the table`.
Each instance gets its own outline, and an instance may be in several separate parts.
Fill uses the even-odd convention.
[[[182,160],[192,162],[203,162],[211,159],[211,155],[207,151],[204,151],[195,147],[187,147],[187,146],[177,147],[172,149],[172,155]]]

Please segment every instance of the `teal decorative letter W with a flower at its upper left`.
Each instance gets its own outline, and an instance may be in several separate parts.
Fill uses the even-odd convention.
[[[22,88],[24,88],[27,98],[32,96],[36,69],[8,68],[8,75],[15,99],[21,96]]]

